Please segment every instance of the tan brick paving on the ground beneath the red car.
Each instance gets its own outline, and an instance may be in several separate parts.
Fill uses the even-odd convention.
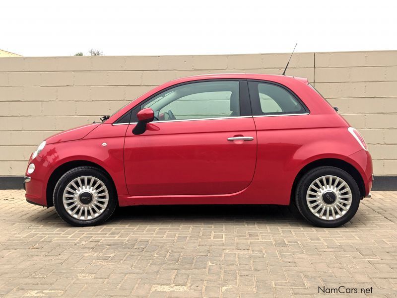
[[[397,192],[373,192],[333,229],[276,206],[121,208],[77,228],[0,190],[0,297],[396,297],[396,214]]]

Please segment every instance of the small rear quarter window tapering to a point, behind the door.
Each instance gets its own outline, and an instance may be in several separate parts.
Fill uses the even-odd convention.
[[[287,89],[265,82],[250,81],[254,115],[300,114],[306,109]]]

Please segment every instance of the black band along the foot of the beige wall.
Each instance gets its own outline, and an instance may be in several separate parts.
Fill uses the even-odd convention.
[[[23,176],[0,176],[0,189],[23,189]],[[375,176],[373,191],[397,191],[397,176]]]

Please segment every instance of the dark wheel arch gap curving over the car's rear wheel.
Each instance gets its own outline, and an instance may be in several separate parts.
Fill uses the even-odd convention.
[[[316,159],[308,164],[306,164],[296,175],[294,182],[292,184],[292,189],[291,189],[291,197],[290,197],[290,202],[293,202],[295,192],[296,192],[296,186],[299,182],[299,180],[302,178],[302,176],[307,173],[308,171],[319,167],[319,166],[334,166],[337,168],[340,168],[347,173],[349,173],[353,179],[357,182],[358,188],[360,190],[360,196],[364,197],[365,196],[365,184],[363,177],[361,176],[360,172],[350,163],[348,163],[345,160],[338,159],[338,158],[321,158],[321,159]]]

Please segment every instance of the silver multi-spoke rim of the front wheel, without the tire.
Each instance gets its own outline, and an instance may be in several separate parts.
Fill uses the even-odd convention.
[[[109,202],[109,193],[105,184],[98,178],[81,176],[67,184],[62,200],[70,216],[88,221],[105,211]]]

